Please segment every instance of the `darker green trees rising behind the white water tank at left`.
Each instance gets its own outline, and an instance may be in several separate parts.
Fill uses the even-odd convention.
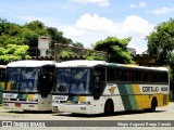
[[[71,39],[63,37],[63,32],[53,27],[46,27],[39,21],[26,23],[23,26],[0,18],[0,46],[17,44],[29,46],[30,49],[38,47],[38,37],[48,36],[53,43],[73,43]]]

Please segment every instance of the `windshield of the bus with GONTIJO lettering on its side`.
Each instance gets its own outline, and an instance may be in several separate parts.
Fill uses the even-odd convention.
[[[89,68],[58,68],[57,93],[87,94],[89,93]]]

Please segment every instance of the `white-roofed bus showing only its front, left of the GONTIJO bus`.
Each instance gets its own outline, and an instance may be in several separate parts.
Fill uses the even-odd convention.
[[[51,61],[16,61],[7,65],[3,108],[51,110],[55,64]]]

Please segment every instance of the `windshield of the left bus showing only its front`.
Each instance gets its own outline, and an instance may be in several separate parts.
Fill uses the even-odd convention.
[[[9,91],[36,92],[39,69],[35,67],[8,68]]]

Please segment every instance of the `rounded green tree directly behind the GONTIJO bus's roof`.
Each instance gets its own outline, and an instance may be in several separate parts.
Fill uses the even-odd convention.
[[[130,38],[119,39],[116,37],[108,37],[98,41],[94,46],[94,50],[108,53],[108,62],[129,64],[134,63],[130,53],[127,51],[127,44]]]

